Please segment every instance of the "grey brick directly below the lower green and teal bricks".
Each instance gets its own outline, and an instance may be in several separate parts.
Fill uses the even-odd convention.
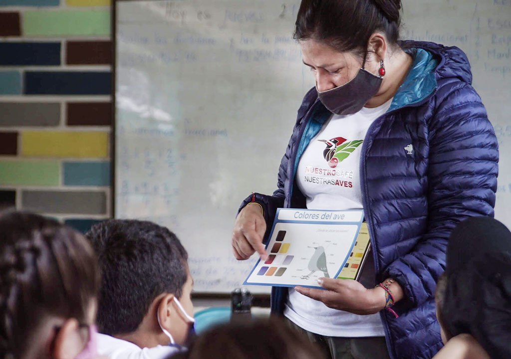
[[[21,192],[24,210],[43,213],[105,214],[104,192],[38,191]]]

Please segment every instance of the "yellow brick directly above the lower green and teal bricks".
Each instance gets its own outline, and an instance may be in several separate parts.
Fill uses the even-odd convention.
[[[107,132],[24,131],[21,133],[23,156],[108,157]]]

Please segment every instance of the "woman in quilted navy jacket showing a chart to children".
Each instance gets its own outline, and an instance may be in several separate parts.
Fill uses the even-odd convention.
[[[400,9],[301,2],[294,37],[316,87],[298,109],[277,190],[250,195],[233,233],[237,259],[264,258],[277,208],[363,208],[374,255],[366,286],[321,278],[326,290],[272,289],[272,312],[332,358],[431,358],[442,347],[433,297],[450,231],[494,213],[498,145],[467,57],[398,42]]]

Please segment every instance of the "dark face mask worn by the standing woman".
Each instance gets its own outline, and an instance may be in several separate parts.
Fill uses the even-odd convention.
[[[326,91],[318,91],[319,100],[330,112],[338,115],[350,115],[364,107],[380,89],[383,78],[371,74],[362,68],[357,75],[344,85]],[[316,85],[317,91],[317,85]]]

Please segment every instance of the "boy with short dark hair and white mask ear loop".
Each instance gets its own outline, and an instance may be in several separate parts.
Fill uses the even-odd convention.
[[[159,359],[185,350],[193,333],[193,279],[177,237],[151,222],[110,220],[86,236],[102,274],[98,353]]]

